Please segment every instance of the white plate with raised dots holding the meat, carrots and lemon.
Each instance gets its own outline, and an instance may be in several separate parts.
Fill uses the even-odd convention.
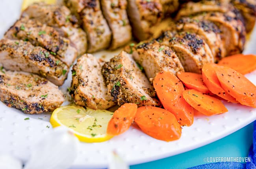
[[[21,0],[0,0],[0,37],[19,18]],[[247,43],[245,53],[256,53],[256,29]],[[102,51],[98,56],[113,56],[113,52]],[[246,75],[256,84],[256,71]],[[61,87],[66,92],[71,75]],[[219,140],[241,129],[256,119],[256,109],[224,102],[228,112],[217,116],[195,117],[191,127],[184,127],[180,140],[165,142],[143,134],[135,127],[128,132],[103,143],[80,143],[79,156],[74,167],[103,168],[108,165],[108,155],[117,151],[129,164],[149,162],[201,147]],[[30,120],[24,118],[30,117]],[[38,119],[43,118],[43,119]],[[38,138],[43,137],[52,128],[48,122],[50,114],[26,115],[20,110],[6,107],[0,102],[0,153],[12,155],[26,161],[30,147]]]

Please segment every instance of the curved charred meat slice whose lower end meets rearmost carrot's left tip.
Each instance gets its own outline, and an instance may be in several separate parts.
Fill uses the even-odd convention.
[[[199,35],[210,47],[215,62],[226,56],[221,31],[213,22],[184,17],[178,20],[175,29]]]

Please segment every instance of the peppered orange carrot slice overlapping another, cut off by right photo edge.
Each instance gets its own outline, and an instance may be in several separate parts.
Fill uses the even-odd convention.
[[[228,94],[235,97],[242,105],[256,108],[256,86],[246,77],[224,66],[216,70],[216,75]]]

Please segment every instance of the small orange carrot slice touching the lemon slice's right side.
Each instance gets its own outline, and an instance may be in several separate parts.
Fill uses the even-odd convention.
[[[115,110],[113,117],[108,122],[107,134],[119,135],[126,132],[137,112],[137,105],[135,103],[125,103],[117,110]]]

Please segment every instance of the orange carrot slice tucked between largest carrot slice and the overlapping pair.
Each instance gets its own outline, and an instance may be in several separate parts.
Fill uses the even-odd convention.
[[[177,76],[187,88],[195,89],[205,94],[210,93],[210,90],[203,82],[201,74],[191,72],[178,72]]]

